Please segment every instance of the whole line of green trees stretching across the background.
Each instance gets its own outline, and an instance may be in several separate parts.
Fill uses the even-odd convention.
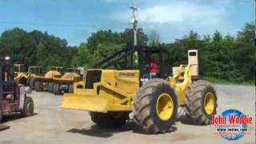
[[[198,49],[200,74],[203,77],[220,78],[230,82],[254,82],[255,80],[255,28],[246,23],[233,37],[214,34],[199,35],[190,31],[172,43],[160,42],[154,31],[147,36],[138,29],[138,45],[160,46],[170,52],[170,66],[187,63],[187,50]],[[25,66],[39,65],[46,70],[50,66],[90,68],[91,64],[106,58],[124,46],[133,45],[133,30],[122,32],[98,30],[79,46],[69,46],[66,39],[47,32],[21,28],[6,30],[0,37],[0,57],[10,56],[14,63]]]

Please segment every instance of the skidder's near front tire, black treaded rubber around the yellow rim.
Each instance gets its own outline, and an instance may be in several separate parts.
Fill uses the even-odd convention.
[[[157,113],[158,98],[162,94],[169,94],[172,99],[172,114],[170,118],[162,120]],[[134,122],[146,134],[165,133],[176,122],[178,111],[177,96],[174,88],[161,78],[154,78],[146,82],[134,98]]]

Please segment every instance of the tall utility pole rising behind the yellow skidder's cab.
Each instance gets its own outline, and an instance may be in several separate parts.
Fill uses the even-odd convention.
[[[133,11],[132,18],[130,19],[130,22],[133,23],[134,26],[134,46],[137,46],[137,18],[135,15],[135,12],[138,10],[137,7],[135,6],[130,6],[130,9]],[[135,67],[138,66],[138,52],[136,51],[134,53],[134,62],[135,62]],[[133,55],[130,58],[130,61],[133,63]]]

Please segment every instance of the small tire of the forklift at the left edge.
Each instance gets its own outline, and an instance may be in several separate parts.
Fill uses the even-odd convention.
[[[29,117],[34,114],[34,101],[30,97],[26,97],[24,101],[24,106],[22,110],[23,117]]]

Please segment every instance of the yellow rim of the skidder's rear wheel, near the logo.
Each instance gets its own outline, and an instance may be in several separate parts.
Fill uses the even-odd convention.
[[[214,112],[214,94],[212,94],[211,92],[206,93],[206,97],[205,97],[205,110],[206,110],[206,114],[213,114]]]

